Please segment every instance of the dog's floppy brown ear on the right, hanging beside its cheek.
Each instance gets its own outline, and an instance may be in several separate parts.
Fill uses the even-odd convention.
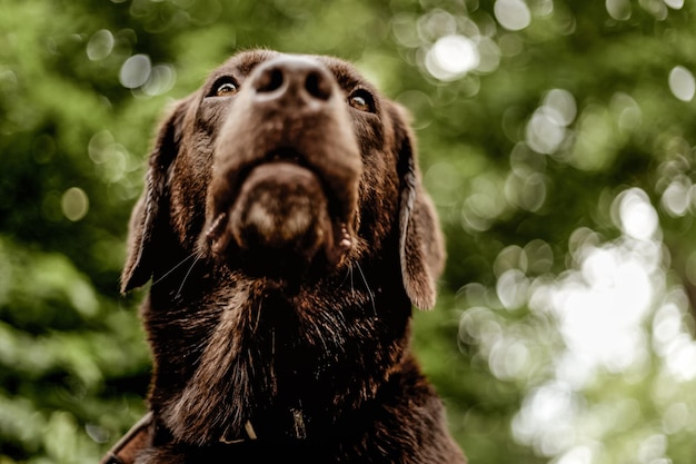
[[[404,288],[414,306],[435,306],[436,283],[445,265],[443,233],[435,206],[420,184],[415,137],[408,113],[391,109],[399,156],[401,192],[399,198],[399,253]]]

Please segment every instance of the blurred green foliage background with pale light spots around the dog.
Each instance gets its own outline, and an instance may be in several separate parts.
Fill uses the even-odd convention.
[[[473,464],[696,462],[694,0],[0,0],[0,463],[143,413],[126,225],[169,102],[336,55],[414,113],[449,261],[416,349]]]

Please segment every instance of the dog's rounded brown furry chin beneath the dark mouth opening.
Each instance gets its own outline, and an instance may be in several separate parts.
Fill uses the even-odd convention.
[[[253,168],[208,233],[213,253],[268,276],[321,260],[337,266],[352,247],[335,201],[311,170],[294,162]]]

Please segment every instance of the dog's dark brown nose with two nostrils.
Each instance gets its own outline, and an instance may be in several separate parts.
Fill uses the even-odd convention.
[[[296,100],[311,105],[324,102],[335,92],[332,75],[310,58],[281,57],[259,65],[251,87],[260,100]]]

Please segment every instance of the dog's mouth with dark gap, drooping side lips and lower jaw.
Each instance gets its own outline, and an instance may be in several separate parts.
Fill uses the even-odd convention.
[[[355,189],[318,172],[291,150],[274,150],[212,191],[206,238],[213,254],[237,254],[270,272],[324,256],[337,266],[354,247]]]

